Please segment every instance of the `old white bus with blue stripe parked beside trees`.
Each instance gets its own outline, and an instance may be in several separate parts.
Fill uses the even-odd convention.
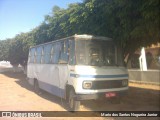
[[[35,90],[68,100],[71,110],[81,100],[119,97],[128,90],[121,49],[111,38],[86,34],[31,47],[27,77]]]

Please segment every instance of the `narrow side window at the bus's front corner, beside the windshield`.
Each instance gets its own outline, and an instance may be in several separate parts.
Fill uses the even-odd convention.
[[[69,64],[70,65],[75,65],[76,64],[76,59],[75,59],[75,41],[70,40],[69,41]]]

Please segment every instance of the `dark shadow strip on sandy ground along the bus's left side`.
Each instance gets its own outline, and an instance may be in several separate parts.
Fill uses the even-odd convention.
[[[32,85],[30,85],[26,79],[26,75],[24,75],[23,73],[13,73],[13,72],[4,72],[2,73],[3,75],[7,76],[7,77],[10,77],[10,78],[14,78],[16,79],[16,83],[18,85],[20,85],[21,87],[31,91],[31,92],[34,92],[34,88]],[[37,94],[37,93],[35,93]],[[67,105],[67,102],[64,100],[64,99],[61,99],[57,96],[54,96],[44,90],[40,90],[40,94],[37,94],[38,96],[46,99],[46,100],[49,100],[53,103],[56,103],[58,105],[60,105],[61,107],[63,107],[65,110],[69,110],[69,107]]]

